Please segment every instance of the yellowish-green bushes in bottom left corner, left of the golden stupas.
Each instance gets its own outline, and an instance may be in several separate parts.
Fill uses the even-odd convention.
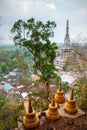
[[[23,116],[24,105],[19,99],[13,96],[0,96],[0,130],[17,127],[17,118]]]

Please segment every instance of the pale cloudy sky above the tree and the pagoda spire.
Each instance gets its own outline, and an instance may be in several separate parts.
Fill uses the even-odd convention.
[[[31,17],[56,22],[55,42],[64,41],[67,19],[71,39],[87,34],[87,0],[0,0],[0,44],[12,43],[14,22]]]

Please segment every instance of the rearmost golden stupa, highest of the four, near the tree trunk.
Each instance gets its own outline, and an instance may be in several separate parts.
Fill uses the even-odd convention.
[[[58,90],[55,94],[55,102],[56,103],[59,103],[59,104],[62,104],[65,102],[65,94],[62,90],[62,85],[61,85],[61,81],[59,81],[59,84],[58,84]]]

